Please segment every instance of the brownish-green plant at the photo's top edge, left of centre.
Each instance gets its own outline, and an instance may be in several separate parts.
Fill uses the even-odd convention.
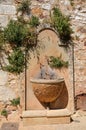
[[[30,0],[22,0],[22,2],[20,3],[20,5],[17,8],[17,11],[18,12],[21,11],[22,15],[24,13],[30,14],[30,5],[31,5]]]

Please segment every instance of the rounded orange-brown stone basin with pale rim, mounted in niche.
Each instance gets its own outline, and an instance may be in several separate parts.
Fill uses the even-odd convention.
[[[50,103],[56,100],[64,86],[64,79],[31,79],[32,88],[35,96],[40,102]]]

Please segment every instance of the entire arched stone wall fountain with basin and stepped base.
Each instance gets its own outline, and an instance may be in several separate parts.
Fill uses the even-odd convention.
[[[50,29],[40,31],[38,41],[44,48],[39,50],[41,64],[31,55],[27,69],[27,110],[22,113],[23,124],[70,123],[70,116],[74,112],[72,66],[51,69],[44,57],[59,57],[62,54],[63,60],[70,59],[72,62],[72,56],[68,58],[67,50],[59,46],[59,37]]]

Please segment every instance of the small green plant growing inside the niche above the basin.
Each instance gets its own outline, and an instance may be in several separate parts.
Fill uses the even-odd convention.
[[[49,65],[54,68],[68,67],[68,61],[61,60],[61,57],[50,57]]]

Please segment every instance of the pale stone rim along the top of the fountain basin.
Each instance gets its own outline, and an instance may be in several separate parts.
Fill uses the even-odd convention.
[[[59,79],[30,79],[31,83],[39,83],[39,84],[48,84],[48,83],[60,83],[63,82],[64,78],[59,78]]]

